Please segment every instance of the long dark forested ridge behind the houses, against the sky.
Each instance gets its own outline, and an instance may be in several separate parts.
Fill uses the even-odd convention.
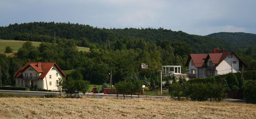
[[[57,42],[58,39],[74,39],[78,46],[90,47],[90,44],[93,43],[97,44],[99,49],[106,47],[106,40],[109,38],[111,46],[116,46],[120,42],[126,44],[131,39],[142,39],[146,42],[158,42],[158,46],[162,40],[185,42],[190,45],[192,53],[210,52],[213,47],[225,47],[232,50],[232,45],[225,40],[190,35],[182,31],[175,32],[163,28],[106,29],[78,23],[31,22],[10,24],[7,27],[0,27],[0,39],[52,42],[54,31]],[[129,49],[128,46],[127,49]]]

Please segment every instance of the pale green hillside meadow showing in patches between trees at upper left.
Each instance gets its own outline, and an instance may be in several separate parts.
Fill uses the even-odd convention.
[[[22,47],[22,44],[24,44],[26,41],[20,41],[20,40],[0,40],[0,53],[3,53],[5,51],[5,47],[10,46],[13,51],[18,51],[19,48]],[[35,47],[39,46],[41,42],[32,42],[32,45]],[[77,47],[79,51],[86,51],[88,52],[90,48],[88,47]]]

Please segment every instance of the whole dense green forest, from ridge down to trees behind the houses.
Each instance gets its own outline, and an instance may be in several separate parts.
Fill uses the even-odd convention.
[[[190,53],[207,53],[214,47],[235,51],[250,66],[248,70],[256,70],[256,50],[252,46],[243,48],[221,38],[164,28],[106,29],[73,23],[15,23],[0,27],[0,39],[42,42],[39,47],[25,42],[15,57],[0,54],[5,85],[14,84],[12,75],[30,59],[56,62],[64,70],[76,69],[74,77],[91,84],[108,82],[108,73],[112,71],[113,83],[138,77],[145,85],[151,82],[149,86],[156,88],[162,65],[182,65],[182,72],[187,73],[184,65]],[[78,51],[75,46],[90,47],[90,51]],[[141,63],[149,68],[141,69]]]

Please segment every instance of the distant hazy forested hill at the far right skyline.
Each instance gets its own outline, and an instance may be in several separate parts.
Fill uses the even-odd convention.
[[[226,40],[233,46],[239,48],[255,47],[256,46],[256,34],[248,34],[243,32],[219,32],[206,35],[206,37],[217,37]]]

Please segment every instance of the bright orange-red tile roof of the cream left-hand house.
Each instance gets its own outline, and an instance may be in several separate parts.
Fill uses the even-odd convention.
[[[38,63],[41,63],[41,67],[39,65],[38,67]],[[51,68],[53,66],[56,66],[57,69],[61,72],[61,74],[63,75],[63,77],[66,77],[66,75],[62,72],[62,70],[59,68],[59,66],[54,62],[27,62],[23,67],[20,67],[19,70],[17,70],[17,72],[15,72],[15,74],[13,75],[13,77],[19,78],[22,77],[22,72],[27,69],[29,66],[31,66],[35,71],[37,71],[38,73],[42,73],[38,79],[44,79],[45,75],[47,75],[47,73],[51,70]]]

